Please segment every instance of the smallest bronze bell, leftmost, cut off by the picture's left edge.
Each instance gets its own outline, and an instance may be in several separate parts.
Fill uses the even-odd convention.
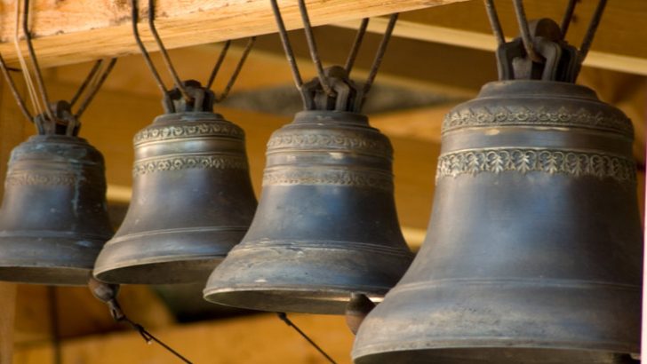
[[[85,285],[112,236],[103,156],[68,123],[36,118],[39,134],[13,149],[0,208],[0,281]]]

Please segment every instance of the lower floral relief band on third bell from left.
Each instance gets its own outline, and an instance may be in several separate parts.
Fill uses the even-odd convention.
[[[352,170],[266,170],[263,186],[270,185],[361,186],[393,191],[393,177],[380,172]]]

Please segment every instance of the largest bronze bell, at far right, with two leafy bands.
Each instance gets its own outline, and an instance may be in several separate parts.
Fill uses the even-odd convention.
[[[564,82],[571,51],[537,73],[520,46],[499,49],[504,81],[445,116],[427,239],[363,321],[355,363],[637,362],[632,125]]]

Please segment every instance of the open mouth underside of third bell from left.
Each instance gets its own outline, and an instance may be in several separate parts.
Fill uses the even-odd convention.
[[[219,305],[273,313],[344,314],[351,293],[381,302],[387,289],[204,289],[204,299]]]

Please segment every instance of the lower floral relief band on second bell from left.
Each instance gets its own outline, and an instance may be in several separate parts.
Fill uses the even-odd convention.
[[[247,170],[247,159],[235,156],[178,156],[135,162],[133,176],[164,170],[217,169]]]

